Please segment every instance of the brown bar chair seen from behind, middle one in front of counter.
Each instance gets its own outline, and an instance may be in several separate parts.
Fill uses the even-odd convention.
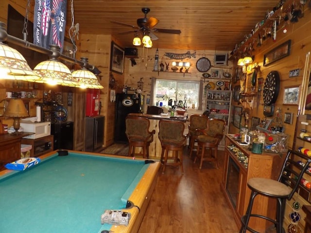
[[[162,147],[161,162],[163,163],[163,174],[166,166],[180,166],[181,173],[184,173],[183,148],[188,137],[188,133],[184,135],[184,130],[185,124],[181,121],[159,121],[159,140]],[[170,150],[173,151],[172,157],[169,157]],[[168,160],[173,160],[173,162],[168,162]]]

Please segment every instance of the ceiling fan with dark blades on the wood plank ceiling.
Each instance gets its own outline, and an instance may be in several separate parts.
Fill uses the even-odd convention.
[[[158,39],[158,37],[153,32],[171,33],[171,34],[180,34],[181,33],[180,30],[175,30],[175,29],[154,28],[155,25],[158,24],[159,20],[155,17],[147,18],[147,14],[150,12],[150,8],[144,7],[144,8],[141,8],[141,11],[145,14],[145,17],[137,19],[137,25],[138,26],[134,26],[134,25],[127,24],[127,23],[122,23],[122,22],[115,21],[115,20],[113,20],[111,22],[121,24],[124,26],[129,26],[129,27],[132,27],[134,29],[133,31],[123,32],[123,33],[119,33],[119,34],[141,32],[143,35],[148,34],[152,40]]]

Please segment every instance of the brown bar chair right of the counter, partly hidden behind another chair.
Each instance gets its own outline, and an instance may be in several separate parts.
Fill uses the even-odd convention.
[[[194,144],[197,142],[198,135],[202,134],[196,130],[205,130],[207,128],[208,116],[201,114],[192,114],[189,118],[189,156],[191,157],[192,151],[196,151]]]

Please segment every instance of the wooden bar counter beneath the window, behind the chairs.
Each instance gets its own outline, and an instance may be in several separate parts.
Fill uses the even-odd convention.
[[[149,131],[155,130],[154,141],[150,144],[149,147],[149,155],[150,157],[156,157],[156,159],[160,159],[161,157],[161,142],[159,140],[159,120],[179,120],[182,122],[186,122],[187,116],[177,115],[176,117],[171,117],[170,114],[161,114],[161,115],[150,115],[150,114],[142,114],[142,113],[130,113],[129,116],[139,116],[146,117],[150,120],[150,128]],[[188,133],[188,126],[185,126],[185,133]],[[142,153],[142,148],[137,148],[135,153]]]

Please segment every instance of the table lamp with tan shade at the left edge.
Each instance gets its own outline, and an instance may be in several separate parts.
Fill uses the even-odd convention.
[[[19,129],[19,118],[29,116],[23,100],[11,99],[3,116],[12,117],[14,119],[13,127],[15,134],[18,133]]]

